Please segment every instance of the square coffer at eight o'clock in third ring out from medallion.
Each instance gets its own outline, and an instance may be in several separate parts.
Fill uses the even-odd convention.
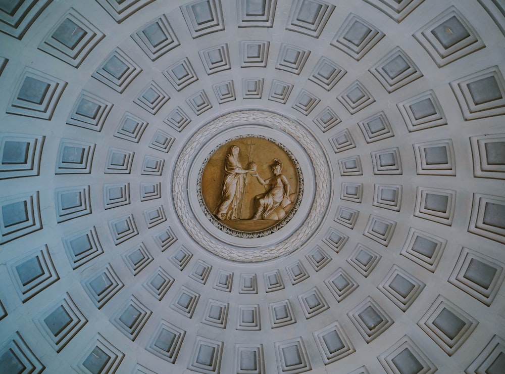
[[[81,284],[92,303],[98,309],[102,308],[124,287],[124,283],[110,263],[102,270],[98,270],[94,275],[84,279]]]

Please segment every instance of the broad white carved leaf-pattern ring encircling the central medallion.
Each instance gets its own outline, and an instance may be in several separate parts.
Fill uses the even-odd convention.
[[[241,248],[229,245],[210,236],[203,229],[188,206],[188,175],[195,154],[201,151],[208,140],[219,133],[247,123],[268,124],[273,129],[291,136],[309,156],[314,170],[314,199],[305,221],[288,237],[260,249],[250,246]],[[198,168],[199,169],[199,168]],[[327,212],[331,191],[331,169],[322,147],[301,123],[295,123],[275,113],[244,110],[219,117],[200,128],[187,142],[179,155],[173,176],[173,198],[176,212],[189,235],[203,248],[225,259],[239,262],[270,260],[298,249],[314,234]],[[196,195],[195,192],[192,192]],[[304,199],[305,200],[305,197]],[[248,248],[246,248],[248,247]]]

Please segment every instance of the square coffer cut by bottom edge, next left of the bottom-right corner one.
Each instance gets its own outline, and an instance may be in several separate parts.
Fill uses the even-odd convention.
[[[416,372],[416,370],[418,373],[433,374],[437,371],[435,364],[407,335],[380,354],[377,359],[387,374]]]

